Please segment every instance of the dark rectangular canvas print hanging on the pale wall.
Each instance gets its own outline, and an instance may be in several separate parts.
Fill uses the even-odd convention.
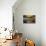
[[[23,23],[35,23],[36,16],[35,15],[23,15]]]

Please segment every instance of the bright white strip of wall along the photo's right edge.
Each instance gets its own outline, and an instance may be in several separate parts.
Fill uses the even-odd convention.
[[[41,38],[42,46],[46,46],[46,0],[42,0],[41,3]]]

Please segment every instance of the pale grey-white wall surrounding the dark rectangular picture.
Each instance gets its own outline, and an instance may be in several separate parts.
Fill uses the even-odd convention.
[[[18,2],[20,1],[18,0]],[[22,0],[13,6],[13,14],[15,29],[22,32],[24,38],[34,40],[36,46],[41,46],[41,1]],[[23,15],[25,14],[36,15],[36,23],[23,24]]]

